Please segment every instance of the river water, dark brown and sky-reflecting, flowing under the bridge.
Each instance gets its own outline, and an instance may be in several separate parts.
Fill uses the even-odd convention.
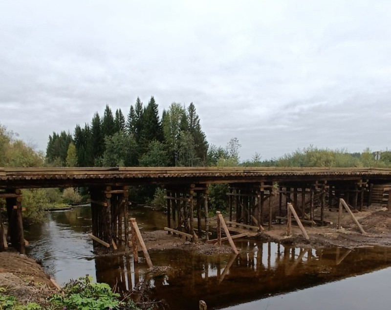
[[[141,230],[162,229],[163,213],[131,210]],[[152,252],[154,265],[171,270],[152,276],[140,255],[98,257],[92,253],[89,207],[52,212],[42,225],[30,226],[28,254],[60,285],[89,274],[120,293],[138,288],[166,309],[390,309],[391,249],[382,247],[300,249],[258,240],[235,240],[240,254],[200,255]],[[137,301],[137,295],[133,296]]]

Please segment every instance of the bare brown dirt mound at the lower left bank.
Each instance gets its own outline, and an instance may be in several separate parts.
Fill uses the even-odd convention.
[[[22,304],[45,304],[45,298],[58,291],[37,262],[11,250],[0,252],[0,286]]]

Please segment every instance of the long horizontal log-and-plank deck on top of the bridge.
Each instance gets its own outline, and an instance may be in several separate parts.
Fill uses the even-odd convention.
[[[391,180],[389,168],[335,167],[0,167],[0,188],[98,184],[189,184]]]

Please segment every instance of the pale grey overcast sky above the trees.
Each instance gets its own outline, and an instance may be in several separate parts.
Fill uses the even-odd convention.
[[[390,86],[389,0],[0,0],[0,123],[37,149],[153,95],[241,160],[381,150]]]

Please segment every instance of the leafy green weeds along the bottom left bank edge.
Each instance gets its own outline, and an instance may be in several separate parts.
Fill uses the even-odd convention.
[[[20,305],[14,296],[0,287],[0,310],[141,310],[133,301],[120,300],[106,283],[93,283],[88,275],[68,282],[60,294],[53,294],[47,305]]]

